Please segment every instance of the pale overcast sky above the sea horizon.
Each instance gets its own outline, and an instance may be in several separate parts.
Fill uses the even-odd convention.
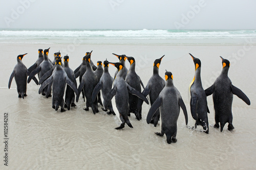
[[[4,29],[256,29],[254,0],[0,0],[0,4]]]

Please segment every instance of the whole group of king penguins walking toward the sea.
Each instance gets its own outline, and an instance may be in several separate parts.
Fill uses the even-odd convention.
[[[153,64],[153,75],[148,80],[144,87],[140,77],[135,71],[134,57],[126,55],[117,55],[119,62],[109,62],[105,60],[97,62],[95,66],[91,60],[91,52],[87,52],[86,56],[82,58],[82,63],[74,71],[69,67],[69,56],[62,57],[60,52],[54,53],[54,60],[48,58],[49,49],[42,51],[38,50],[38,59],[27,69],[23,64],[22,59],[26,55],[17,56],[17,64],[10,76],[10,88],[13,77],[17,85],[18,97],[23,98],[27,96],[27,82],[31,79],[38,85],[39,94],[46,95],[46,98],[52,96],[52,108],[58,110],[61,107],[61,112],[66,111],[64,108],[75,107],[78,102],[79,95],[82,92],[83,100],[86,102],[86,108],[92,108],[93,113],[97,113],[98,103],[102,105],[102,110],[108,114],[116,115],[121,120],[121,125],[116,129],[124,128],[125,123],[133,128],[129,116],[134,113],[136,118],[140,120],[142,104],[148,103],[150,100],[151,108],[148,111],[146,122],[147,124],[158,125],[159,119],[161,131],[156,134],[159,136],[166,135],[167,143],[176,142],[177,135],[177,120],[180,113],[180,108],[183,110],[185,116],[185,123],[188,123],[186,106],[182,100],[181,94],[173,83],[173,74],[170,71],[165,72],[165,80],[159,75],[159,66],[164,56],[156,59]],[[214,84],[207,89],[203,89],[201,82],[201,61],[200,59],[189,54],[195,64],[195,77],[189,85],[190,91],[190,112],[192,117],[196,120],[195,127],[201,125],[204,132],[208,134],[208,116],[209,109],[207,107],[207,96],[212,94],[215,109],[215,128],[223,127],[228,123],[228,130],[234,129],[232,125],[232,100],[233,94],[236,94],[247,105],[250,105],[250,100],[239,88],[232,85],[228,78],[228,69],[230,63],[227,59],[221,57],[222,71],[220,76],[216,79]],[[130,62],[129,70],[125,67],[125,61]],[[109,64],[117,68],[114,78],[109,73]],[[39,82],[35,75],[38,75]],[[27,77],[29,78],[27,79]],[[76,78],[79,77],[79,86],[77,88]],[[63,96],[66,95],[65,101]],[[143,88],[141,92],[141,87]],[[51,95],[52,91],[52,95]],[[101,91],[101,93],[100,93]],[[111,100],[113,100],[113,105]],[[109,110],[109,111],[108,111]]]

